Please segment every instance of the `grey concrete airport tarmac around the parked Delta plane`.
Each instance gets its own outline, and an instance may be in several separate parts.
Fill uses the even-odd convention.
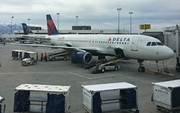
[[[139,64],[136,60],[120,61],[121,69],[99,74],[91,74],[84,70],[80,64],[71,64],[67,61],[38,61],[31,66],[22,66],[20,60],[13,60],[11,52],[14,49],[31,50],[39,53],[45,51],[56,51],[51,48],[37,48],[7,44],[0,45],[0,96],[5,98],[6,113],[13,112],[14,88],[23,83],[47,84],[47,85],[71,85],[71,113],[84,113],[82,107],[81,85],[128,82],[138,86],[138,107],[141,113],[161,113],[151,102],[152,82],[180,79],[180,73],[175,70],[175,57],[165,61],[168,64],[168,71],[174,76],[158,75],[146,71],[137,71]],[[156,63],[144,61],[144,66],[156,69]],[[159,62],[159,69],[162,69],[162,62]]]

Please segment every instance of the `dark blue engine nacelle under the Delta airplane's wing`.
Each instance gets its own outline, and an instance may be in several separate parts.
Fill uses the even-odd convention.
[[[89,52],[75,52],[72,60],[81,64],[90,64],[92,62],[92,55]]]

